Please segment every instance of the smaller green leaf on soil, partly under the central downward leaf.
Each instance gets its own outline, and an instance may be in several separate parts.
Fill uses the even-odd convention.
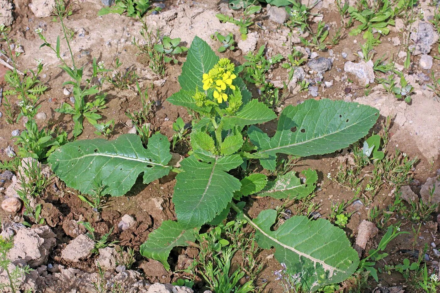
[[[185,230],[176,221],[164,221],[161,227],[148,234],[148,239],[140,245],[140,254],[160,261],[169,271],[168,256],[176,246],[187,246],[187,242],[194,242],[193,229]]]

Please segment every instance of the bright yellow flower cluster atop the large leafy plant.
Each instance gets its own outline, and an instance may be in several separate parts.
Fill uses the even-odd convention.
[[[224,93],[227,87],[235,90],[235,86],[232,84],[232,81],[237,77],[234,74],[234,69],[234,63],[231,63],[231,60],[222,58],[208,73],[203,73],[203,90],[213,88],[214,99],[218,103],[227,100],[227,94]]]

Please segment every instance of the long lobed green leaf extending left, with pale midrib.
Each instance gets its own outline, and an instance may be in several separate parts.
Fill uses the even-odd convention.
[[[143,172],[143,182],[169,173],[171,160],[166,136],[154,134],[148,149],[139,136],[124,134],[117,139],[77,140],[55,150],[48,158],[52,170],[68,187],[91,194],[94,182],[105,186],[103,194],[124,195]]]

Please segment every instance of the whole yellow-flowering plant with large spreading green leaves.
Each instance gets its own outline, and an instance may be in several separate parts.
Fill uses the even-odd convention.
[[[263,50],[260,49],[261,54]],[[246,221],[256,231],[255,238],[261,248],[275,246],[275,259],[301,275],[299,282],[304,290],[314,291],[342,282],[359,264],[357,253],[343,230],[325,219],[311,221],[307,216],[292,216],[272,231],[271,227],[278,223],[275,209],[264,210],[252,219],[243,212],[246,203],[239,202],[251,194],[286,200],[306,198],[315,190],[316,171],[303,170],[301,174],[305,180],[302,181],[293,171],[274,180],[260,173],[236,175],[237,178],[235,174],[243,173],[228,171],[238,166],[246,168],[249,159],[259,160],[262,168],[273,171],[278,154],[301,157],[348,147],[367,135],[376,123],[378,110],[357,103],[308,99],[282,110],[277,131],[270,138],[255,125],[271,121],[277,115],[263,102],[251,99],[251,93],[237,76],[238,71],[229,59],[219,59],[205,41],[194,38],[179,77],[181,90],[167,99],[173,105],[200,115],[191,131],[192,151],[180,162],[176,175],[172,202],[177,221],[163,221],[148,235],[140,253],[161,261],[169,270],[168,256],[173,247],[195,242],[201,247],[204,242],[196,240],[200,227],[219,225],[233,209],[237,220]],[[331,144],[326,143],[329,140]],[[147,148],[138,136],[126,134],[110,141],[94,139],[67,143],[52,153],[48,161],[68,187],[89,193],[92,185],[86,178],[96,178],[105,186],[103,194],[118,196],[130,190],[140,173],[147,184],[176,170],[168,165],[172,157],[169,150],[168,138],[161,134],[153,134]],[[117,160],[109,160],[113,155]],[[92,160],[99,169],[91,164]],[[72,173],[72,169],[76,172]],[[118,176],[114,176],[114,170]],[[279,190],[277,186],[281,182],[295,188]],[[295,246],[297,242],[305,245]],[[337,255],[334,254],[336,250]],[[211,262],[212,270],[206,268],[204,273],[207,281],[212,282],[210,286],[218,288],[216,284],[226,284],[233,289],[238,286],[235,280],[242,274],[241,271],[230,272],[232,253],[226,248],[222,251],[222,255],[213,256],[218,257],[218,261],[215,260],[216,264]],[[297,262],[300,258],[301,262]]]

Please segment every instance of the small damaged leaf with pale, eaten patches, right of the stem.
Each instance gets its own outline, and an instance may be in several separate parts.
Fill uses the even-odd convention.
[[[295,176],[295,172],[280,175],[274,181],[269,181],[266,187],[257,193],[258,196],[270,196],[272,198],[305,198],[315,190],[318,175],[315,170],[306,169],[301,172],[306,176],[304,184]]]

